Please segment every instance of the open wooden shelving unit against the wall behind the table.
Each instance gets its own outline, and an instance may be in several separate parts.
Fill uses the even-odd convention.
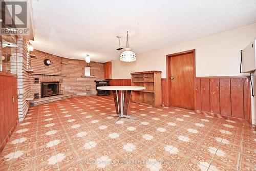
[[[153,105],[162,105],[161,71],[135,72],[132,75],[132,86],[143,86],[145,90],[132,91],[132,101]]]

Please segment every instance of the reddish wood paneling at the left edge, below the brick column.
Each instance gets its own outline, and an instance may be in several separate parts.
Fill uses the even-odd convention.
[[[17,76],[0,72],[0,153],[18,122]]]

